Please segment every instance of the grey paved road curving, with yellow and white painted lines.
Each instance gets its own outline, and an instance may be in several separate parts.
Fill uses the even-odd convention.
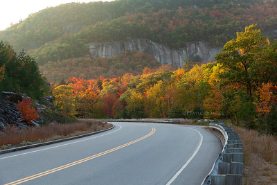
[[[222,150],[201,127],[114,124],[82,139],[0,155],[0,184],[201,184]]]

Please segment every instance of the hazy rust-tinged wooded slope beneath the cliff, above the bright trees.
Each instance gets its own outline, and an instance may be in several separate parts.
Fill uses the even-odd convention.
[[[91,79],[101,75],[105,78],[117,78],[125,73],[140,75],[145,67],[155,68],[159,66],[161,64],[148,54],[126,51],[109,59],[69,58],[57,62],[47,62],[40,67],[40,70],[44,72],[47,79],[59,79],[60,81],[62,79],[67,80],[72,76]]]

